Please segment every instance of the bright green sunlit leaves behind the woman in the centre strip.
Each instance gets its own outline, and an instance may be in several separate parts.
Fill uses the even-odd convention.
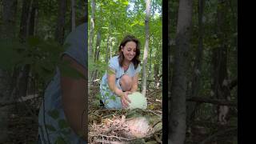
[[[90,3],[90,1],[88,3]],[[113,7],[115,9],[113,9]],[[96,2],[94,39],[97,37],[96,35],[99,31],[102,36],[102,41],[98,65],[94,62],[94,58],[90,58],[88,65],[90,71],[99,70],[98,78],[101,78],[106,71],[106,58],[108,60],[110,59],[110,53],[112,57],[117,54],[118,45],[126,34],[132,34],[140,40],[140,59],[142,59],[145,43],[145,9],[146,3],[142,0],[115,0],[114,2],[112,0],[106,0]],[[151,9],[149,49],[152,49],[152,63],[158,62],[156,66],[162,67],[162,1],[152,1]],[[91,6],[89,6],[88,12],[90,19]],[[88,24],[90,28],[90,22]],[[109,43],[107,41],[108,38],[112,40],[109,41]],[[109,49],[106,49],[107,46],[109,46]],[[111,50],[110,46],[112,46]],[[96,40],[94,40],[93,49],[94,51],[96,50]],[[148,61],[150,61],[150,59],[148,59]],[[147,69],[150,70],[150,66],[147,66]],[[158,70],[161,71],[161,68]],[[154,70],[151,71],[152,73],[154,72]],[[154,79],[154,74],[150,74],[148,78]]]

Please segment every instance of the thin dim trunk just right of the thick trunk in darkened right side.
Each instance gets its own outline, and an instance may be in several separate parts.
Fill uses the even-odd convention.
[[[189,98],[198,96],[198,90],[200,87],[200,77],[202,70],[202,54],[203,54],[203,26],[202,26],[202,14],[203,14],[204,1],[198,0],[198,50],[197,56],[193,66],[193,78]],[[190,123],[194,115],[196,108],[196,102],[190,102],[187,106],[187,122]]]

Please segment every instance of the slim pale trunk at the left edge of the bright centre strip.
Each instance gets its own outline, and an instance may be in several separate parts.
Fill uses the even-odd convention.
[[[95,6],[96,6],[95,1],[91,0],[90,36],[89,36],[89,57],[90,58],[93,57]]]

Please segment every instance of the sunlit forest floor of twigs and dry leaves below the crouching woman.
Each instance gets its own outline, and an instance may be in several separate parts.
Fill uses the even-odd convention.
[[[100,106],[98,94],[99,86],[91,86],[89,98],[90,143],[162,143],[162,89],[149,90],[146,93],[148,107],[144,112],[147,113],[146,115],[152,114],[152,117],[155,116],[161,122],[153,120],[155,121],[154,132],[144,130],[145,134],[142,132],[132,134],[133,128],[129,125],[130,118],[128,118],[129,111],[106,110]],[[142,126],[147,127],[142,119],[137,119],[133,125],[138,123],[140,123],[140,126],[136,128],[139,129],[138,131]]]

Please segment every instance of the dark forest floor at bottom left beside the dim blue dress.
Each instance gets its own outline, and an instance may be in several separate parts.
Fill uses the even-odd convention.
[[[13,105],[9,115],[8,141],[6,144],[34,144],[38,142],[38,112],[41,98]]]

